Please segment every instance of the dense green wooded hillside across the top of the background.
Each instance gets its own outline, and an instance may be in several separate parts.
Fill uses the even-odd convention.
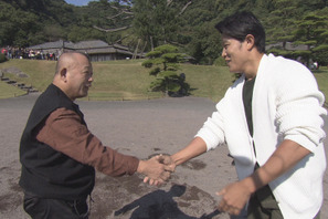
[[[328,64],[327,0],[99,0],[74,7],[64,0],[0,0],[0,46],[28,46],[59,39],[99,39],[131,50],[165,43],[199,63],[212,64],[221,51],[214,24],[250,10],[264,24],[269,52]],[[286,42],[308,51],[286,50]]]

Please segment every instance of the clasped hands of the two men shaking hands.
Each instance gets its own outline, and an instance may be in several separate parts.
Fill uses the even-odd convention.
[[[176,169],[170,155],[156,155],[148,160],[140,160],[137,171],[145,174],[144,182],[159,186],[167,181]]]

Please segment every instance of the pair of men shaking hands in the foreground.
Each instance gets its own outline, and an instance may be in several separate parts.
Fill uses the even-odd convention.
[[[265,31],[252,12],[234,13],[215,28],[230,72],[242,76],[189,145],[148,160],[117,153],[91,133],[74,101],[87,95],[92,64],[85,54],[63,53],[21,137],[24,210],[34,219],[85,219],[95,170],[117,177],[140,173],[145,182],[160,185],[179,165],[226,145],[239,180],[218,191],[220,211],[318,219],[327,111],[314,75],[296,61],[265,53]]]

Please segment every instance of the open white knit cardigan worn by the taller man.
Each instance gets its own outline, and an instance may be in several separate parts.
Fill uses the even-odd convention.
[[[263,55],[253,91],[253,138],[244,113],[243,84],[244,75],[228,90],[197,136],[207,143],[208,150],[226,143],[240,179],[253,173],[256,160],[264,165],[284,139],[309,149],[309,156],[269,187],[284,218],[314,218],[322,205],[322,116],[327,116],[314,75],[298,62]]]

